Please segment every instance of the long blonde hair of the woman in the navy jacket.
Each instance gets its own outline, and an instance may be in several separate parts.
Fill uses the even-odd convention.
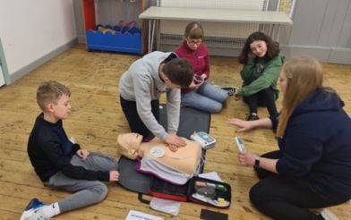
[[[318,88],[322,87],[321,63],[312,57],[292,58],[284,63],[281,74],[287,77],[287,88],[279,114],[277,137],[284,135],[287,122],[295,107]]]

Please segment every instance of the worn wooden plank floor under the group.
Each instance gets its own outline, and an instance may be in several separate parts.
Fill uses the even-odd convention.
[[[69,136],[74,136],[83,148],[119,157],[116,137],[128,132],[128,125],[119,105],[117,82],[137,55],[118,55],[87,52],[82,45],[57,56],[12,85],[0,89],[0,219],[19,219],[30,199],[51,203],[68,195],[64,191],[49,190],[34,173],[27,156],[27,140],[36,116],[40,113],[35,94],[43,80],[58,80],[72,91],[73,113],[64,121]],[[326,84],[338,90],[351,114],[351,66],[323,64]],[[210,82],[240,86],[241,66],[235,58],[213,57]],[[163,102],[165,98],[161,99]],[[281,99],[278,99],[280,106]],[[227,213],[229,219],[268,219],[257,211],[248,199],[250,187],[257,178],[250,167],[239,165],[235,146],[235,127],[227,125],[229,117],[244,118],[247,106],[242,101],[227,101],[220,114],[213,114],[210,134],[217,139],[215,148],[207,153],[205,172],[216,171],[232,186],[232,205],[227,210],[182,203],[180,213],[173,217],[153,211],[141,204],[137,194],[108,183],[107,199],[96,206],[81,208],[55,219],[124,219],[128,211],[163,216],[166,219],[199,219],[201,208]],[[265,109],[259,115],[267,115]],[[246,147],[257,154],[277,148],[271,131],[242,134]],[[341,218],[351,216],[351,204],[332,210]]]

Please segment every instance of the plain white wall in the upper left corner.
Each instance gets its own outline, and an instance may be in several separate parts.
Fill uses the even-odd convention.
[[[0,38],[10,75],[76,37],[73,0],[0,0]]]

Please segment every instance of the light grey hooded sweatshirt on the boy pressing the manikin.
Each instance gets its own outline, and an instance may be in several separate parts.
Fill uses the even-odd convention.
[[[119,93],[128,101],[135,101],[137,112],[145,126],[159,139],[166,140],[167,132],[151,112],[151,100],[167,94],[168,132],[176,133],[179,125],[180,89],[169,89],[159,78],[159,64],[170,53],[155,51],[135,61],[119,80]]]

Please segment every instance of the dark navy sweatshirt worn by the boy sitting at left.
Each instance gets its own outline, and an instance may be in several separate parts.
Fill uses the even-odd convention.
[[[78,144],[68,140],[62,120],[49,123],[44,120],[43,114],[39,114],[30,132],[27,151],[31,165],[42,182],[47,182],[58,171],[78,180],[109,181],[109,172],[71,165],[71,158],[78,149]]]

